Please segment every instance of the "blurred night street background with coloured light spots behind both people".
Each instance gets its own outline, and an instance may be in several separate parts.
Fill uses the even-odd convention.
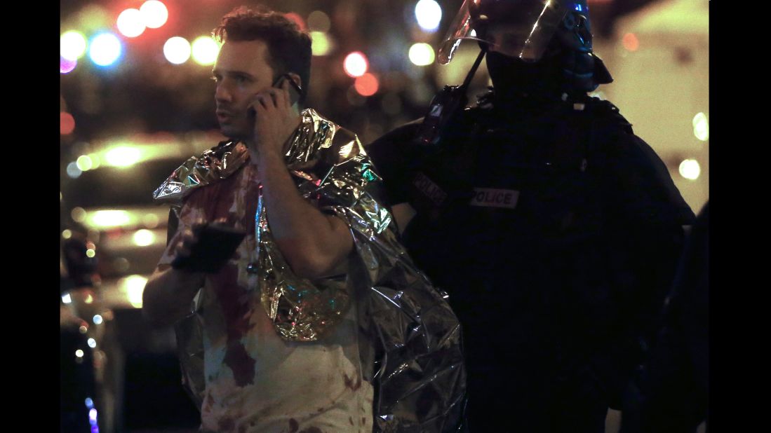
[[[210,31],[237,5],[287,12],[313,39],[307,106],[369,143],[423,116],[478,53],[436,49],[461,0],[61,0],[62,431],[194,431],[173,330],[141,317],[167,238],[153,190],[224,139]],[[709,198],[709,1],[588,0],[621,109],[698,212]],[[484,65],[470,100],[490,85]],[[618,430],[618,413],[608,431]]]

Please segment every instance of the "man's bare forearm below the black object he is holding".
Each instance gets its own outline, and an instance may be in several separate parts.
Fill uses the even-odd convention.
[[[204,285],[202,273],[157,267],[147,280],[142,304],[145,316],[159,326],[174,324],[190,313],[190,303]]]

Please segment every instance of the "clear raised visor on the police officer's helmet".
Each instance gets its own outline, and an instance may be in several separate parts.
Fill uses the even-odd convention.
[[[464,40],[536,62],[566,13],[561,0],[464,0],[439,47],[439,63],[449,63]]]

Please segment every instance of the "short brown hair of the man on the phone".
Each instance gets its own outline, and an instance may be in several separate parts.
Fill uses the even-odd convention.
[[[300,102],[308,96],[311,78],[311,37],[281,12],[267,7],[240,6],[222,17],[212,35],[218,42],[261,40],[268,45],[268,65],[274,71],[273,80],[294,72],[302,80]]]

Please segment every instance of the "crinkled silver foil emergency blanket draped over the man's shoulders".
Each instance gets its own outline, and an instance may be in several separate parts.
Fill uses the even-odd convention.
[[[348,223],[355,254],[343,274],[297,277],[271,237],[260,197],[255,236],[261,304],[285,340],[315,341],[357,303],[363,374],[375,388],[373,431],[461,431],[466,371],[460,325],[446,294],[416,269],[399,243],[382,204],[382,180],[355,134],[312,109],[301,117],[284,155],[288,170],[305,199]],[[243,144],[221,143],[188,159],[154,197],[179,206],[191,190],[230,176],[247,160]],[[177,324],[183,383],[199,404],[202,326],[196,305]]]

